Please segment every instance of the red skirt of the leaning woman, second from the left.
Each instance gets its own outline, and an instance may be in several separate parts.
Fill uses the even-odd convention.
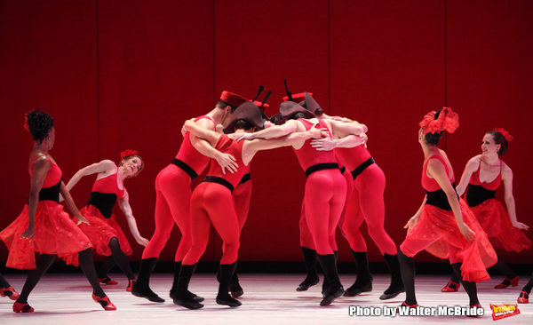
[[[87,218],[89,225],[82,223],[79,227],[89,240],[91,240],[92,247],[94,247],[99,255],[111,255],[109,241],[111,241],[113,237],[118,239],[120,248],[124,254],[131,255],[133,250],[131,250],[130,242],[128,242],[122,228],[116,223],[115,214],[111,215],[111,218],[104,218],[98,208],[91,204],[84,206],[84,208],[80,210],[80,213]],[[74,221],[76,222],[76,217],[74,218]],[[76,254],[64,259],[67,264],[76,265],[78,256]]]

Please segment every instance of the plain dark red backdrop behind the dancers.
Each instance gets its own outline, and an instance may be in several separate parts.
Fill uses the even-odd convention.
[[[28,198],[32,140],[22,127],[28,110],[43,105],[54,117],[52,155],[65,180],[101,159],[118,162],[123,149],[139,151],[146,168],[126,186],[140,233],[149,238],[155,176],[176,155],[182,123],[211,110],[221,91],[252,97],[259,83],[274,91],[267,112],[273,115],[283,78],[293,92],[314,92],[327,113],[369,126],[370,152],[386,173],[386,230],[397,244],[424,197],[418,121],[444,105],[460,116],[461,126],[441,146],[457,178],[480,153],[484,131],[503,126],[515,136],[503,159],[515,175],[518,218],[533,226],[531,17],[528,0],[0,2],[0,229]],[[295,155],[290,148],[259,153],[251,172],[240,259],[301,260],[305,175]],[[78,206],[93,180],[73,189]],[[139,260],[142,248],[115,209],[134,249],[131,259]],[[381,262],[362,228],[370,261]],[[174,229],[163,260],[172,260],[179,238]],[[338,245],[339,260],[352,260],[340,235]],[[6,256],[0,245],[0,260]],[[213,232],[203,260],[219,256]],[[533,258],[530,251],[503,256],[512,263]],[[426,253],[417,260],[440,261]]]

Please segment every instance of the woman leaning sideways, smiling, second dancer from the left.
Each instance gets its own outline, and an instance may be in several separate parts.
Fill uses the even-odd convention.
[[[89,237],[97,253],[107,256],[97,273],[99,281],[105,284],[117,284],[107,276],[107,272],[117,264],[128,277],[129,283],[126,290],[131,291],[135,283],[135,275],[131,272],[126,255],[131,255],[132,250],[122,228],[115,221],[113,207],[115,202],[118,202],[128,220],[131,234],[139,245],[147,246],[148,240],[139,234],[137,222],[131,212],[130,195],[123,184],[125,178],[133,178],[139,174],[140,170],[143,170],[144,162],[135,150],[123,151],[121,159],[118,167],[110,160],[103,160],[78,170],[68,181],[67,190],[70,191],[84,176],[97,174],[89,202],[80,211],[90,224],[80,225],[80,229]],[[77,256],[73,255],[65,259],[68,264],[76,264]]]

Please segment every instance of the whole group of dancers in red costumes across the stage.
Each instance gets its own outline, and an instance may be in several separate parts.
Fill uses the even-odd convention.
[[[365,146],[367,126],[326,115],[312,93],[292,94],[288,89],[280,114],[269,118],[265,109],[270,91],[262,101],[256,101],[263,90],[261,86],[254,99],[223,91],[210,112],[185,122],[185,139],[178,154],[155,178],[155,234],[149,241],[139,234],[123,184],[125,178],[134,178],[144,168],[138,153],[124,151],[118,166],[111,160],[93,163],[76,172],[65,185],[49,153],[55,140],[52,116],[40,109],[30,111],[24,124],[34,139],[28,161],[29,200],[20,216],[0,232],[0,239],[9,249],[6,266],[30,269],[20,294],[0,275],[0,295],[15,300],[13,311],[34,311],[28,305],[28,296],[56,257],[82,268],[91,283],[93,300],[105,310],[116,309],[100,286],[117,283],[107,276],[115,265],[128,277],[127,290],[132,295],[163,303],[165,300],[150,288],[149,281],[174,224],[182,234],[170,289],[174,304],[189,309],[203,307],[203,297],[189,291],[188,285],[206,249],[212,224],[223,240],[216,302],[242,305],[235,299],[243,295],[236,266],[239,238],[251,200],[250,165],[259,150],[277,147],[293,147],[306,173],[299,229],[307,274],[297,290],[318,284],[318,259],[324,273],[320,305],[372,290],[367,246],[359,230],[363,221],[391,273],[390,285],[379,297],[382,300],[405,292],[402,305],[418,305],[413,257],[421,250],[449,258],[454,273],[442,291],[457,291],[462,285],[470,306],[480,306],[476,282],[489,280],[489,266],[505,274],[505,280],[495,288],[518,285],[518,275],[492,247],[521,251],[531,246],[522,232],[529,227],[518,222],[515,213],[513,172],[499,159],[513,139],[507,131],[497,129],[484,135],[481,155],[466,164],[456,188],[448,156],[438,144],[444,131],[453,133],[457,129],[458,116],[449,107],[424,116],[419,123],[418,142],[425,155],[422,186],[426,197],[406,224],[408,234],[398,249],[385,230],[386,178]],[[193,191],[192,180],[210,161],[207,177]],[[78,210],[68,191],[80,178],[94,174],[90,200]],[[507,210],[495,199],[502,181]],[[460,198],[465,192],[466,202]],[[61,200],[74,218],[63,211]],[[116,202],[135,240],[146,246],[137,278],[127,259],[131,246],[112,211]],[[227,209],[228,205],[232,208]],[[350,245],[357,269],[356,280],[347,289],[337,271],[337,227]],[[107,257],[98,272],[91,260],[92,249]],[[37,261],[36,252],[40,253]],[[532,287],[533,275],[522,288],[519,303],[529,302]]]

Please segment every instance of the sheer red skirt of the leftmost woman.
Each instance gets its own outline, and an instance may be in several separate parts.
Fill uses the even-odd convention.
[[[5,266],[18,269],[36,268],[36,254],[68,255],[91,248],[91,241],[70,219],[63,206],[53,201],[41,201],[36,210],[36,232],[31,242],[20,239],[20,234],[28,228],[28,209],[26,204],[10,226],[0,232],[0,239],[9,249]]]

